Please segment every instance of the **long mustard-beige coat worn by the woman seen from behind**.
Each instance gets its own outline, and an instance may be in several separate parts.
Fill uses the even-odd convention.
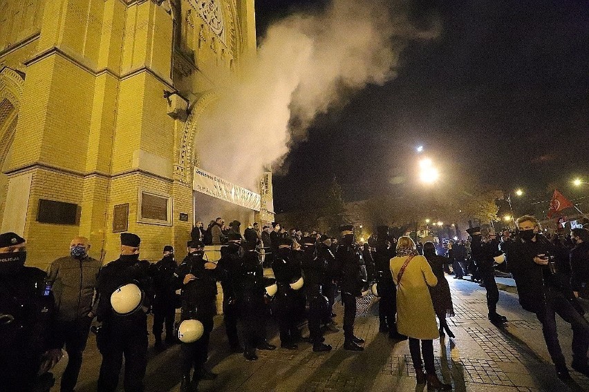
[[[415,339],[437,339],[440,335],[428,286],[436,286],[438,278],[433,275],[427,259],[417,255],[407,264],[401,282],[397,282],[407,257],[393,257],[390,263],[397,285],[398,331]]]

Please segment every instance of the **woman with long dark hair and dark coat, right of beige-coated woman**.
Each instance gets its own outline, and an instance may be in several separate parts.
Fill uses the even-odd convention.
[[[436,312],[438,320],[440,320],[440,336],[446,333],[449,337],[454,337],[454,333],[450,331],[446,317],[454,317],[454,306],[452,305],[452,297],[450,295],[450,286],[444,275],[444,265],[448,262],[448,258],[438,256],[436,253],[436,246],[433,242],[426,242],[423,245],[423,255],[427,259],[433,275],[438,278],[438,284],[429,288],[431,294],[431,302],[433,303],[433,311]]]

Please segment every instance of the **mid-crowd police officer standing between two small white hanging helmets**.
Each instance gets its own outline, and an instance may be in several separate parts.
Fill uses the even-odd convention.
[[[297,312],[295,308],[296,293],[290,287],[301,277],[301,269],[292,255],[292,239],[283,237],[279,239],[277,255],[272,260],[272,271],[278,286],[274,300],[277,304],[277,313],[280,326],[280,346],[283,349],[295,350],[297,344],[294,341],[298,336]]]

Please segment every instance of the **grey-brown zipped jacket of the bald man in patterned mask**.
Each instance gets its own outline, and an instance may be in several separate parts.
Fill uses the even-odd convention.
[[[55,295],[57,320],[74,321],[96,313],[94,290],[102,263],[92,257],[61,257],[49,266],[47,280]]]

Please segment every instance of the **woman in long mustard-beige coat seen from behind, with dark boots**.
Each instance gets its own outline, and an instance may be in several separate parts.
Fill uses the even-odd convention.
[[[440,382],[433,364],[433,339],[440,335],[429,286],[436,286],[438,278],[433,275],[427,259],[415,251],[415,242],[410,237],[399,238],[397,256],[391,259],[390,266],[397,285],[397,328],[399,333],[409,336],[409,351],[418,384],[427,381],[429,391],[450,391],[451,384]],[[427,375],[423,372],[424,362]]]

